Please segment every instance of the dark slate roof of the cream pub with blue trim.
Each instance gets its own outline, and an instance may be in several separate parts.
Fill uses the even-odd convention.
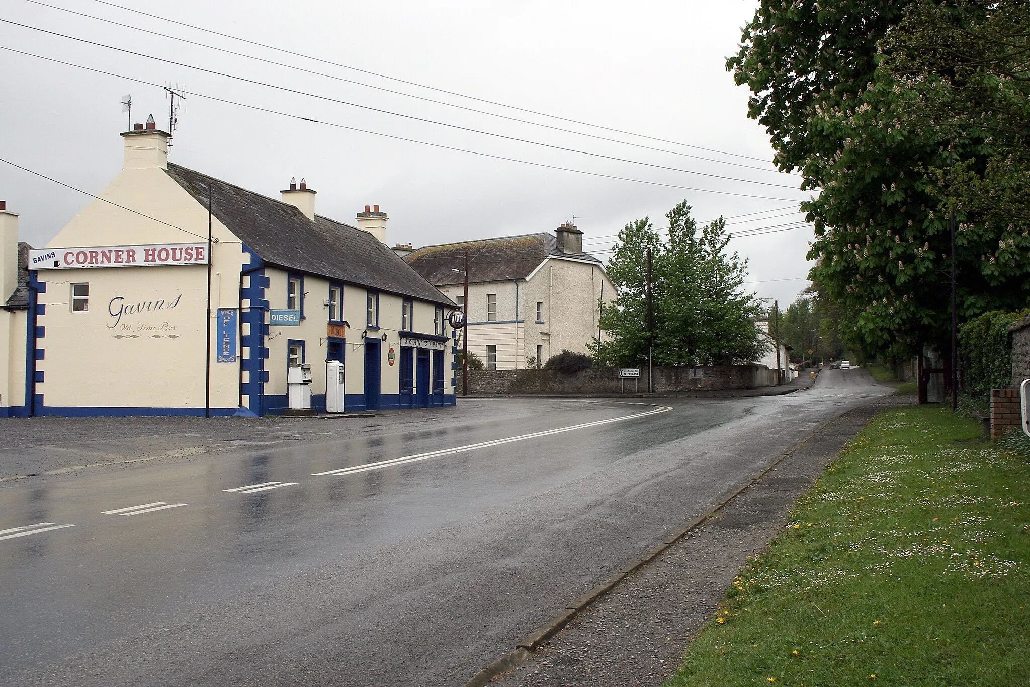
[[[299,209],[185,167],[168,164],[168,175],[207,206],[222,225],[267,264],[335,281],[453,305],[404,260],[368,232]]]

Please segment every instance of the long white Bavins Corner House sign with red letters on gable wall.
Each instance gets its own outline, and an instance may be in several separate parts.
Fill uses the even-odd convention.
[[[87,267],[161,267],[207,265],[207,242],[156,243],[142,246],[40,248],[29,251],[30,270],[76,270]]]

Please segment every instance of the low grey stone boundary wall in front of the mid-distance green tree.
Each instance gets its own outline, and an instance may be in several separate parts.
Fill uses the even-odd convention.
[[[625,380],[625,393],[647,391],[647,368],[640,384]],[[655,391],[702,391],[756,388],[776,382],[776,370],[759,365],[708,368],[655,368]],[[623,393],[623,382],[614,368],[562,374],[552,370],[470,370],[469,393]]]

